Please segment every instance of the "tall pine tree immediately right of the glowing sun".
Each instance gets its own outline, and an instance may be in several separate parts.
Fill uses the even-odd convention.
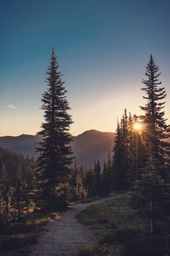
[[[146,106],[140,106],[145,111],[141,116],[144,123],[144,132],[146,137],[146,146],[152,147],[154,156],[158,159],[160,166],[165,163],[166,157],[166,119],[164,118],[164,100],[166,98],[165,88],[160,88],[161,82],[159,81],[160,72],[156,66],[153,56],[151,55],[148,66],[146,67],[146,80],[143,79],[145,85],[142,90],[146,93],[143,96],[146,99]],[[161,174],[165,175],[165,174]]]

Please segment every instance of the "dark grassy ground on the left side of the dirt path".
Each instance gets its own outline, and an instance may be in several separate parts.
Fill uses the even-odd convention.
[[[0,231],[0,255],[27,255],[27,245],[36,244],[51,214],[31,213],[22,221],[9,223]]]

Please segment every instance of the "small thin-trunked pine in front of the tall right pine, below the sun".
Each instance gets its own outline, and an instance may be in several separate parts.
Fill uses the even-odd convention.
[[[144,216],[149,216],[149,229],[153,234],[159,231],[158,222],[162,216],[162,202],[164,200],[164,180],[161,179],[158,160],[149,149],[149,158],[140,179],[136,181],[136,200],[138,208],[144,212]],[[163,167],[164,168],[164,167]]]

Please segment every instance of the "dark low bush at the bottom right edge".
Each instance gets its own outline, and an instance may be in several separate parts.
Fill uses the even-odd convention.
[[[133,239],[123,248],[123,256],[164,256],[166,247],[160,237],[150,236],[143,239]]]

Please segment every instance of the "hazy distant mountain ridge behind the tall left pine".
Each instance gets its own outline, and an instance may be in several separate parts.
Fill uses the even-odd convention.
[[[76,163],[93,166],[97,159],[103,163],[114,146],[114,138],[114,132],[99,132],[95,129],[74,137],[72,148]],[[0,147],[32,157],[36,156],[35,147],[40,140],[41,137],[37,135],[5,136],[0,137]]]

